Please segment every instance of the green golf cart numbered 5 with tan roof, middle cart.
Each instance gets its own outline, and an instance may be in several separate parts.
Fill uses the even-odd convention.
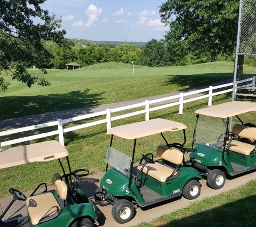
[[[184,144],[186,126],[167,119],[150,119],[143,122],[113,127],[108,132],[112,134],[110,147],[104,157],[107,162],[106,173],[100,181],[100,187],[95,191],[95,200],[99,205],[112,204],[112,215],[116,222],[127,223],[134,216],[136,207],[161,203],[171,198],[183,195],[194,199],[200,195],[202,176],[195,168],[184,167]],[[163,132],[181,131],[183,144],[169,144]],[[165,145],[156,148],[157,160],[153,153],[142,154],[140,164],[134,165],[137,139],[160,133]],[[132,157],[113,147],[113,138],[119,137],[134,140]],[[116,139],[115,141],[119,141]],[[123,147],[125,145],[116,143]],[[182,152],[182,151],[183,152]],[[112,168],[108,169],[108,166]]]

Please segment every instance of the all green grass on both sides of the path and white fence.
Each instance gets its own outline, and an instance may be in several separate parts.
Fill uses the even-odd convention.
[[[245,76],[256,74],[254,67],[244,66],[244,71]],[[36,72],[39,73],[39,70]],[[231,79],[233,77],[233,63],[212,62],[194,66],[153,68],[135,66],[134,72],[133,75],[132,65],[106,63],[77,70],[49,70],[47,79],[52,82],[51,87],[44,88],[36,85],[27,88],[24,84],[13,82],[12,87],[6,93],[1,93],[1,119],[147,98],[208,85]],[[229,101],[231,101],[231,93],[213,97],[213,104]],[[184,104],[183,115],[178,115],[178,107],[172,107],[150,112],[150,118],[159,117],[184,123],[188,126],[186,147],[191,147],[196,121],[195,110],[206,106],[206,99],[199,100]],[[144,115],[116,120],[112,126],[139,120],[144,120]],[[80,123],[84,122],[88,122],[88,120]],[[70,125],[73,124],[70,123]],[[165,136],[170,143],[182,142],[182,134],[170,133]],[[9,137],[0,139],[3,141]],[[47,139],[58,140],[57,137]],[[103,156],[107,152],[109,141],[110,136],[106,134],[105,124],[66,133],[65,145],[70,153],[72,169],[87,168],[91,173],[105,171],[106,164],[103,161]],[[141,154],[149,152],[155,154],[157,145],[163,143],[160,135],[138,139],[135,161],[141,159]],[[132,144],[126,140],[120,140],[120,144],[124,148],[124,153],[131,155],[132,150],[129,148]],[[1,169],[0,198],[10,195],[9,188],[27,191],[34,189],[41,182],[50,184],[51,176],[56,172],[61,173],[57,160]],[[243,210],[245,212],[252,211],[255,207],[255,186],[255,181],[250,182],[244,187],[235,189],[230,194],[227,192],[227,194],[219,195],[223,197],[207,198],[191,204],[188,208],[176,211],[170,216],[164,216],[152,223],[142,223],[139,226],[183,226],[183,223],[185,226],[202,226],[205,223],[209,223],[207,226],[221,226],[220,218],[224,220],[225,226],[240,226],[226,224],[227,217],[226,215],[222,217],[220,211],[231,213],[234,211],[235,204],[240,205],[239,211],[236,211],[236,217],[239,217],[237,212],[246,215],[247,213],[243,213]],[[254,202],[251,203],[250,201]],[[223,214],[226,214],[225,212]],[[229,218],[231,217],[229,216]],[[246,220],[248,218],[250,217],[246,216]],[[242,218],[240,219],[242,220]]]

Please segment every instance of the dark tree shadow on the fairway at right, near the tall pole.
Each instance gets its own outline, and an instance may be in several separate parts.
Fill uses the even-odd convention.
[[[181,91],[191,88],[201,88],[204,86],[217,86],[219,84],[225,84],[233,82],[233,74],[231,73],[205,73],[195,75],[166,75],[168,82],[163,84],[164,86],[170,84],[177,84],[178,87],[184,87]],[[252,77],[251,74],[244,74],[243,79],[246,77]]]

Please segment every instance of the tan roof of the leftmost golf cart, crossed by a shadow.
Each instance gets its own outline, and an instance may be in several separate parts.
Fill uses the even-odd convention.
[[[0,150],[0,169],[34,161],[51,161],[66,157],[66,148],[56,140]]]

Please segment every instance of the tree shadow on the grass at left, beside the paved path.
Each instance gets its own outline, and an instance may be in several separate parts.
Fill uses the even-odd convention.
[[[92,107],[101,104],[102,93],[89,94],[89,89],[72,91],[67,94],[49,94],[40,96],[12,96],[1,97],[0,119],[10,119],[20,116],[32,116],[60,111],[57,118],[66,119],[79,115],[74,109],[88,107],[84,114],[90,113]],[[63,111],[66,110],[66,111]],[[40,119],[38,119],[40,122]],[[52,119],[56,120],[56,119]],[[45,120],[46,122],[47,120]]]

